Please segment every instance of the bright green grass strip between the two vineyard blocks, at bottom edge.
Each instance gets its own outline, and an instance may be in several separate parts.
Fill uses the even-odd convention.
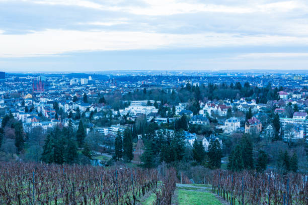
[[[179,205],[222,205],[212,194],[202,191],[178,190]]]

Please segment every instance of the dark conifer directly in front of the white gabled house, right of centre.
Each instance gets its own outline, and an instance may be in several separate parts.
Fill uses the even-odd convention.
[[[220,168],[222,151],[218,139],[211,140],[208,145],[209,166],[211,168]]]

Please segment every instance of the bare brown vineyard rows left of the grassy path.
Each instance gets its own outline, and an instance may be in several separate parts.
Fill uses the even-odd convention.
[[[176,172],[167,170],[158,188],[156,169],[82,165],[0,163],[0,204],[136,204],[146,192],[170,204]]]

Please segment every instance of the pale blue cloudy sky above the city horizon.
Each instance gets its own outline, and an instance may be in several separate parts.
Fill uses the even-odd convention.
[[[0,71],[307,65],[307,0],[0,0]]]

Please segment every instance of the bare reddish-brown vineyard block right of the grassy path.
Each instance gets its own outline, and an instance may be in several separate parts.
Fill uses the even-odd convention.
[[[212,191],[230,204],[308,204],[308,183],[303,175],[289,173],[261,174],[217,170],[212,179]]]

